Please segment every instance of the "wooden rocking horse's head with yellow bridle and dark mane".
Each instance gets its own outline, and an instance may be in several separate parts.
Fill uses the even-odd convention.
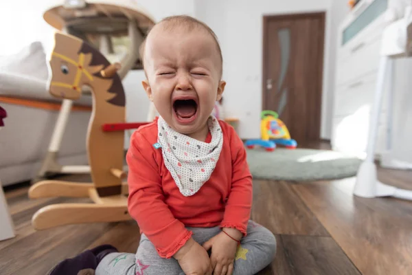
[[[93,46],[75,36],[56,32],[49,61],[49,92],[56,98],[76,100],[87,85],[95,96],[102,94],[107,102],[124,106],[124,89],[117,69],[117,63],[111,65]]]

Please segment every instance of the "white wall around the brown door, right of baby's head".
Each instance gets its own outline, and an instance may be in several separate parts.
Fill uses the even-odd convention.
[[[329,11],[330,0],[196,1],[196,16],[211,25],[221,43],[224,61],[225,114],[240,119],[244,139],[260,137],[262,111],[262,17],[264,15]],[[219,3],[219,4],[218,4]],[[213,8],[212,8],[213,7]],[[330,15],[327,13],[323,87],[330,67]],[[323,105],[329,89],[323,89]],[[326,115],[325,110],[322,116]],[[322,130],[325,129],[323,121]]]

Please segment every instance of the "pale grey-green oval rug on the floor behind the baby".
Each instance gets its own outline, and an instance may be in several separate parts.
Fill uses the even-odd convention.
[[[247,149],[247,161],[255,179],[317,181],[353,177],[362,160],[336,151],[276,148]]]

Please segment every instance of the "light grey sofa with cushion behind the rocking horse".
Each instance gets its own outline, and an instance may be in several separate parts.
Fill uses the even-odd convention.
[[[0,56],[0,96],[59,102],[49,95],[46,55],[40,42],[34,42],[13,56]],[[90,105],[83,96],[78,102]],[[8,112],[0,131],[0,179],[3,186],[32,179],[41,167],[52,137],[58,111],[21,104],[4,103]],[[72,112],[62,140],[58,162],[87,164],[85,137],[89,111]]]

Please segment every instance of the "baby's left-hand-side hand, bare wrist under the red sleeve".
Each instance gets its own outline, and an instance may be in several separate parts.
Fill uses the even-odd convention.
[[[173,257],[187,275],[211,275],[209,255],[205,248],[192,238]]]

